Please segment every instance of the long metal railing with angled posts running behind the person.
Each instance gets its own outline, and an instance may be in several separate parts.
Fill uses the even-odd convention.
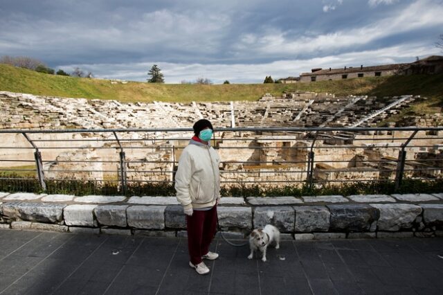
[[[0,181],[172,184],[190,128],[0,130]],[[443,127],[217,128],[221,184],[333,185],[442,177]],[[33,156],[33,157],[32,157]],[[35,172],[35,175],[31,175]]]

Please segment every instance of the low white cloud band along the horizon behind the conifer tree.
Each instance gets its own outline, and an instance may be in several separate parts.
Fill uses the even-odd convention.
[[[426,55],[423,55],[426,53]],[[373,51],[343,53],[313,57],[305,60],[278,60],[262,64],[184,64],[172,62],[143,62],[133,64],[73,64],[61,66],[64,71],[72,71],[79,66],[84,71],[91,71],[97,78],[116,78],[133,81],[146,81],[147,70],[152,64],[159,64],[165,75],[165,82],[179,84],[181,81],[195,81],[199,77],[208,78],[216,84],[229,80],[234,83],[261,83],[266,75],[273,78],[298,76],[316,67],[341,68],[343,66],[364,66],[413,62],[416,56],[425,57],[438,54],[438,48],[431,51],[423,44],[391,46]]]

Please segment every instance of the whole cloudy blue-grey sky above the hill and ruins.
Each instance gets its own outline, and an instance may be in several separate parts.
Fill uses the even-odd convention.
[[[443,0],[0,0],[0,56],[145,81],[262,82],[443,54]]]

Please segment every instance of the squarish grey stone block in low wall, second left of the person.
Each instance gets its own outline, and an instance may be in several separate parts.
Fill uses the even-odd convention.
[[[130,206],[127,224],[136,229],[165,229],[166,206]]]

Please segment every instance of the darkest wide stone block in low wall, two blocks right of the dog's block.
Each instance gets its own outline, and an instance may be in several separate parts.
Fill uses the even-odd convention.
[[[327,205],[331,213],[329,231],[370,231],[372,222],[379,219],[377,208],[369,205]]]

